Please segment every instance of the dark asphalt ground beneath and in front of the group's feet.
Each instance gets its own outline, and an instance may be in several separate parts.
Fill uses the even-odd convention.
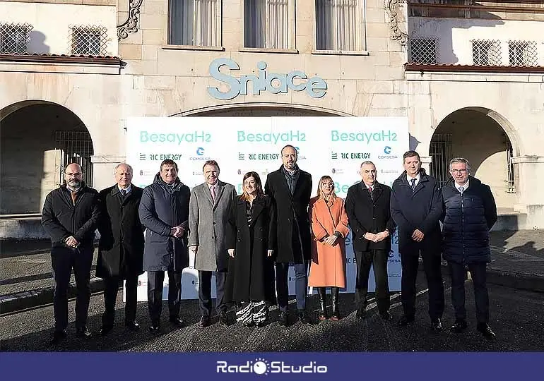
[[[420,273],[420,278],[422,273]],[[451,293],[446,283],[444,327],[454,321]],[[353,294],[341,294],[341,310],[348,315],[339,322],[321,322],[304,326],[296,323],[283,328],[276,322],[277,310],[264,328],[242,325],[221,327],[214,324],[206,329],[196,327],[199,320],[196,301],[184,301],[182,317],[188,326],[175,329],[166,320],[163,308],[162,333],[153,336],[146,303],[138,305],[138,320],[142,329],[133,333],[122,326],[124,312],[121,296],[117,301],[117,327],[107,337],[82,341],[73,337],[73,306],[70,303],[69,337],[58,347],[47,345],[52,334],[53,312],[47,306],[0,317],[1,351],[544,351],[544,294],[490,286],[491,322],[497,333],[496,341],[487,341],[475,331],[471,282],[466,283],[469,329],[463,334],[441,333],[428,329],[427,292],[420,280],[416,322],[401,328],[396,320],[401,315],[398,294],[392,296],[393,322],[384,322],[372,308],[364,322],[355,319]],[[309,310],[317,309],[315,296],[309,298]],[[102,296],[93,296],[88,326],[100,328]]]

